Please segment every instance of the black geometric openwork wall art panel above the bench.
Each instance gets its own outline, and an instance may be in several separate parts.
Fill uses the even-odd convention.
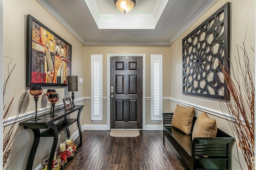
[[[183,94],[221,99],[228,95],[218,62],[229,67],[229,14],[226,3],[182,40]]]

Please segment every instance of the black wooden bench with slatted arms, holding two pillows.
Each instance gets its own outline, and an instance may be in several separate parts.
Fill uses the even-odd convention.
[[[163,113],[163,143],[164,136],[180,154],[191,170],[230,170],[230,146],[234,138],[218,129],[214,138],[195,137],[186,135],[179,129],[172,127],[173,113]],[[193,118],[192,130],[196,117]],[[191,131],[192,133],[192,131]]]

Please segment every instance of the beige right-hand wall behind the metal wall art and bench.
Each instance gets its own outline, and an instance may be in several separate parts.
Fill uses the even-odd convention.
[[[180,100],[185,103],[201,106],[212,111],[222,111],[220,108],[219,100],[213,98],[205,98],[199,96],[191,96],[182,94],[182,39],[186,37],[191,31],[193,31],[204,20],[210,17],[216,10],[222,7],[226,2],[230,2],[230,61],[234,63],[234,56],[238,55],[236,45],[241,45],[244,41],[245,35],[245,47],[250,57],[250,63],[254,68],[254,52],[251,47],[255,47],[255,0],[218,0],[215,2],[198,20],[196,20],[178,39],[176,39],[170,45],[170,97],[175,100]],[[246,32],[247,28],[247,32]],[[177,50],[180,49],[180,50]],[[243,53],[240,51],[240,55]],[[236,69],[236,68],[234,68]],[[170,111],[174,111],[176,103],[171,102]],[[197,111],[197,114],[201,114],[202,111]],[[209,114],[208,114],[209,115]],[[218,128],[226,131],[230,135],[232,132],[225,119],[209,115],[210,118],[214,118],[217,121]],[[233,135],[232,135],[233,136]],[[236,150],[233,149],[233,154],[236,156]],[[241,156],[242,158],[242,156]],[[245,163],[242,159],[243,169],[246,169]],[[232,158],[232,169],[240,169],[235,158]]]

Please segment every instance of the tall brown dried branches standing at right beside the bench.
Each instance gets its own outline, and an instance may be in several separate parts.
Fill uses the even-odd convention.
[[[242,51],[243,57],[240,56]],[[228,68],[225,61],[220,63],[223,78],[226,86],[224,90],[229,95],[220,101],[220,107],[224,115],[231,120],[228,124],[232,133],[236,136],[237,152],[242,151],[248,170],[254,170],[254,68],[250,65],[249,55],[246,51],[244,42],[242,46],[237,45],[238,57]],[[255,51],[252,49],[255,53]],[[241,52],[240,52],[241,53]],[[231,63],[231,62],[230,62]],[[234,68],[236,64],[236,68]],[[230,75],[232,73],[232,77]],[[239,154],[238,163],[240,164]],[[241,164],[240,164],[241,166]],[[241,169],[242,166],[241,166]]]

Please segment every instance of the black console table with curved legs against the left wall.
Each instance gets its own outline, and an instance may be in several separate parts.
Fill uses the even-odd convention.
[[[48,162],[48,168],[47,170],[52,169],[52,161],[54,157],[54,152],[57,147],[58,143],[58,133],[66,129],[68,137],[70,137],[70,131],[69,131],[69,126],[77,122],[77,127],[79,131],[79,136],[80,136],[80,144],[77,145],[78,147],[81,147],[83,142],[82,142],[82,130],[81,130],[81,125],[79,122],[79,117],[80,113],[83,109],[84,105],[78,105],[75,106],[72,109],[65,110],[64,108],[58,109],[54,111],[54,114],[58,115],[56,117],[49,117],[48,114],[44,114],[42,116],[39,116],[41,120],[38,121],[24,121],[20,123],[20,126],[24,126],[24,129],[31,129],[34,133],[34,142],[28,157],[28,163],[26,170],[32,170],[33,162],[34,162],[34,157],[36,154],[36,149],[38,147],[40,137],[54,137],[53,144],[52,144],[52,149],[50,152],[49,156],[49,162]],[[70,113],[73,113],[74,111],[78,110],[77,118],[76,119],[66,119],[66,116],[69,115]],[[54,124],[54,122],[58,121],[59,119],[64,119],[64,122],[62,124]],[[43,131],[40,133],[39,129],[47,129],[46,131]]]

